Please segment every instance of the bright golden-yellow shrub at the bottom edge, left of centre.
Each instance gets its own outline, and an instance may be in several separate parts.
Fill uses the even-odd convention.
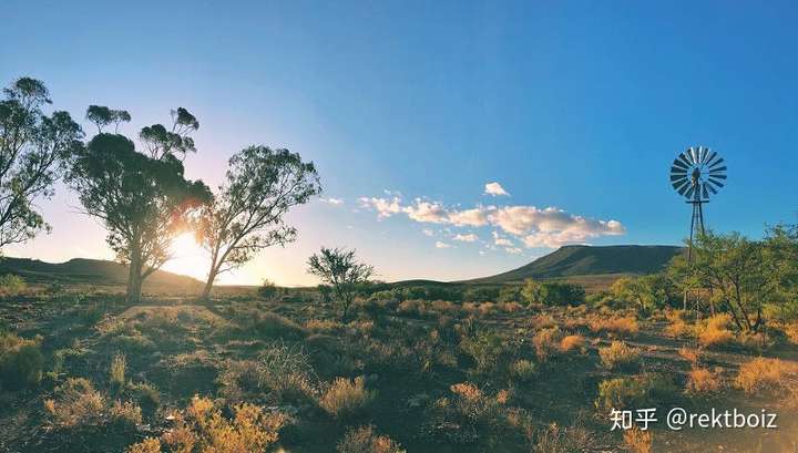
[[[247,403],[234,406],[233,418],[227,419],[213,401],[201,397],[194,397],[185,411],[173,416],[174,428],[160,439],[171,452],[265,451],[277,442],[278,432],[287,421],[279,412],[266,412],[262,406]],[[144,449],[144,445],[135,444],[131,449]]]

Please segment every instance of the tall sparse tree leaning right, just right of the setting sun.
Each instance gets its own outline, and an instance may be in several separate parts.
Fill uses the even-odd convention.
[[[198,223],[211,255],[202,297],[209,296],[219,274],[242,266],[263,248],[293,241],[296,228],[283,216],[320,193],[316,167],[297,153],[249,146],[231,157],[225,183]]]

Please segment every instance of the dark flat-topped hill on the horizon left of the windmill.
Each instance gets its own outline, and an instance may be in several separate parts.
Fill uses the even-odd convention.
[[[564,246],[518,269],[463,282],[508,284],[525,278],[654,274],[683,250],[675,246]]]

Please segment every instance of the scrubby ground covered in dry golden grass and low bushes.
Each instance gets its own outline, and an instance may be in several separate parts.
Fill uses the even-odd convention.
[[[270,422],[279,415],[275,439],[263,437],[268,451],[397,451],[378,435],[408,452],[767,453],[798,445],[798,349],[775,329],[756,341],[712,343],[692,333],[705,320],[673,310],[371,300],[355,312],[342,322],[338,307],[313,292],[262,300],[243,289],[209,303],[171,295],[130,306],[86,288],[6,297],[6,330],[40,337],[44,373],[38,384],[0,391],[0,451],[124,451],[145,437],[176,451],[166,434],[180,413],[191,414],[183,410],[195,397],[208,398],[225,420],[244,402]],[[687,331],[674,333],[675,323]],[[623,342],[613,346],[614,362],[604,357],[613,342]],[[778,370],[753,369],[745,388],[740,367],[755,357],[779,359],[763,362]],[[689,392],[694,370],[712,379]],[[70,378],[88,379],[102,403],[69,393]],[[658,409],[651,442],[611,431],[612,408],[598,389],[618,378],[648,382],[643,393],[608,397],[630,410]],[[765,410],[778,414],[778,428],[671,431],[664,416],[674,406]],[[358,426],[372,426],[358,434],[371,435],[366,450],[350,445],[361,442]]]

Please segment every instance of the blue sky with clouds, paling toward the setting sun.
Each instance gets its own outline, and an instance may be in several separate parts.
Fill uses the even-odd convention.
[[[223,284],[310,285],[310,254],[355,248],[383,280],[509,270],[566,244],[679,244],[668,184],[688,146],[728,162],[707,226],[759,237],[798,209],[798,7],[673,1],[6,0],[0,83],[44,81],[53,107],[130,111],[123,133],[200,120],[186,175],[215,187],[229,156],[287,147],[323,197],[299,230]],[[52,226],[2,250],[113,258],[63,186]],[[186,238],[165,269],[202,277]]]

